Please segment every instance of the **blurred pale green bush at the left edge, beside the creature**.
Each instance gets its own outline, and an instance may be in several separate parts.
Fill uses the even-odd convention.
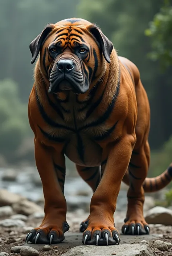
[[[18,85],[11,79],[0,81],[0,123],[0,154],[9,160],[30,133],[27,104],[21,102]]]

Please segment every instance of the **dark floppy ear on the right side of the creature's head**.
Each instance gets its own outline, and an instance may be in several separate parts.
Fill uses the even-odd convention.
[[[98,41],[99,45],[101,46],[103,56],[105,60],[110,63],[110,55],[114,48],[112,42],[108,40],[108,38],[102,33],[102,31],[95,25],[91,25],[89,27],[89,31]]]

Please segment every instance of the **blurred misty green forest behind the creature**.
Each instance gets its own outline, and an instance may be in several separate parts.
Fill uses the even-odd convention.
[[[47,23],[71,17],[97,23],[118,54],[138,66],[151,106],[149,176],[161,173],[172,162],[169,0],[0,0],[0,165],[34,164],[27,113],[34,68],[29,43]]]

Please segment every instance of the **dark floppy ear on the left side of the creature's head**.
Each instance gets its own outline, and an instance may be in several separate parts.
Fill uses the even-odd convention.
[[[48,34],[52,31],[54,28],[53,24],[48,25],[41,34],[39,34],[30,44],[29,49],[32,53],[32,60],[31,63],[33,64],[40,52],[42,42],[45,40],[45,38],[48,36]]]

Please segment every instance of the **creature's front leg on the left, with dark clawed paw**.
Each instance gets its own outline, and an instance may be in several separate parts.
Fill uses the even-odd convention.
[[[37,139],[35,139],[34,145],[36,166],[42,180],[45,198],[45,217],[39,227],[30,231],[26,242],[60,243],[65,239],[64,233],[69,229],[69,225],[66,223],[66,200],[62,191],[63,184],[59,183],[60,178],[57,175],[58,171],[65,170],[65,157],[58,154],[58,159],[55,159],[54,149],[45,147]],[[62,182],[62,177],[60,181]]]

